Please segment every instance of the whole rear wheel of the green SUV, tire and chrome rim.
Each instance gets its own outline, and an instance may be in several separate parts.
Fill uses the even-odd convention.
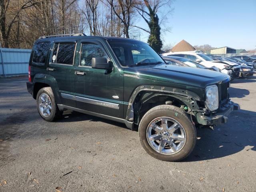
[[[44,87],[36,95],[36,107],[42,119],[52,122],[61,117],[52,88]]]

